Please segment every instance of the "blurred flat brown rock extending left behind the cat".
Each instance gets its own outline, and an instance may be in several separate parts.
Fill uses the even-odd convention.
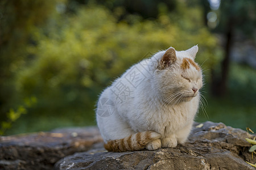
[[[0,169],[53,169],[67,155],[102,143],[96,127],[0,137]]]

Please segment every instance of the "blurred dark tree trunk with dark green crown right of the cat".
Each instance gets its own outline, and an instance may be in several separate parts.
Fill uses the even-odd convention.
[[[254,0],[225,0],[221,1],[217,11],[219,24],[213,32],[225,37],[224,59],[221,62],[220,74],[212,69],[212,94],[223,96],[226,94],[230,69],[230,52],[235,35],[246,36],[255,39],[256,27],[256,1]]]

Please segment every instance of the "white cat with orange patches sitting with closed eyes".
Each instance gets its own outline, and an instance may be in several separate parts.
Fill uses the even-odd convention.
[[[170,47],[133,65],[97,103],[96,119],[108,151],[176,147],[192,129],[203,74],[194,59],[198,46]]]

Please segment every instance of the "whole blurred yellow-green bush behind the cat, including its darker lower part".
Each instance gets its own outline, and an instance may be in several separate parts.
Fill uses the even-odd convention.
[[[76,14],[54,15],[46,27],[32,32],[37,45],[28,45],[26,51],[35,58],[16,74],[18,94],[38,98],[31,114],[66,112],[81,114],[80,121],[85,121],[102,89],[160,49],[185,50],[199,44],[197,61],[207,60],[203,67],[213,67],[220,49],[201,23],[199,9],[180,4],[179,11],[181,16],[163,12],[156,20],[130,15],[118,21],[121,14],[91,5],[79,7]]]

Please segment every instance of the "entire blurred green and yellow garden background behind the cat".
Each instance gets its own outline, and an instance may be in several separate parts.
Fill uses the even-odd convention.
[[[256,130],[256,1],[0,1],[0,134],[96,125],[100,92],[158,50],[198,44],[196,121]],[[208,103],[208,104],[207,104]]]

